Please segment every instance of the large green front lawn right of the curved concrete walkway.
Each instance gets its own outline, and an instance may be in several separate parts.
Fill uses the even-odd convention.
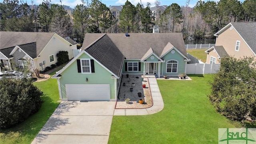
[[[190,75],[192,80],[158,80],[164,109],[146,116],[114,116],[110,144],[216,144],[218,128],[240,128],[210,104],[212,75]]]

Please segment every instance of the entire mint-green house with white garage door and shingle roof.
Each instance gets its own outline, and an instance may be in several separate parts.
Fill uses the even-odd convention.
[[[123,74],[186,72],[182,33],[86,34],[83,50],[53,78],[62,100],[113,100]]]

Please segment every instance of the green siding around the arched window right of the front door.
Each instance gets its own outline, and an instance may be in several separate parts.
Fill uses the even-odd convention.
[[[164,62],[164,64],[161,64],[161,75],[163,74],[163,75],[168,75],[168,76],[178,76],[179,74],[185,72],[186,62],[184,61],[184,57],[182,55],[180,55],[176,50],[175,50],[174,54],[169,52],[162,58],[164,59],[165,62]],[[166,73],[166,63],[169,60],[178,61],[178,72],[177,73]],[[162,68],[163,66],[164,66],[164,68]],[[163,70],[163,73],[162,73],[162,70]]]

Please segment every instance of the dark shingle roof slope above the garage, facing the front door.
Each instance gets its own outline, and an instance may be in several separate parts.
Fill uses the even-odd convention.
[[[108,68],[108,70],[116,74],[116,76],[120,76],[124,55],[118,50],[108,35],[105,34],[84,50]]]

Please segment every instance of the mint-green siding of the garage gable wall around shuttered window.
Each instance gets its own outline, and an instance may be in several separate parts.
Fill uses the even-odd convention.
[[[82,54],[80,58],[90,58],[86,54]],[[92,58],[90,58],[92,59]],[[62,99],[66,99],[66,86],[65,84],[110,84],[110,99],[115,99],[115,83],[114,78],[111,78],[112,74],[103,68],[94,60],[95,73],[82,74],[78,73],[76,60],[61,73],[60,88]],[[88,78],[88,82],[86,82]]]

